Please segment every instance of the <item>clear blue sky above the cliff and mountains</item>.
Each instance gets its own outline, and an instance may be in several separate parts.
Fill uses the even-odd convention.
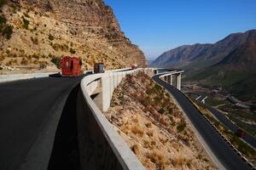
[[[256,29],[256,0],[105,0],[148,59],[196,42]]]

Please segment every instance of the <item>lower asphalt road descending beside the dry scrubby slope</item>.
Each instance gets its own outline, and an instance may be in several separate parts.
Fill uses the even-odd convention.
[[[200,112],[190,103],[189,99],[178,91],[177,88],[174,88],[170,84],[160,80],[160,75],[154,76],[153,79],[174,96],[178,104],[189,117],[190,122],[193,123],[198,133],[200,133],[202,139],[204,139],[208,147],[212,150],[212,153],[226,169],[251,169],[251,167],[249,167],[246,162],[242,161],[241,157],[239,157],[236,152],[230,148],[229,144],[220,137],[212,125],[207,122],[203,116],[201,116]]]

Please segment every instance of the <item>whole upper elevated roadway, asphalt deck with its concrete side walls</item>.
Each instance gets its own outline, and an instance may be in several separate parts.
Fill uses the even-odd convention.
[[[41,73],[0,76],[0,169],[144,169],[102,114],[122,78],[138,71],[158,72],[120,69],[82,80]],[[30,80],[9,82],[20,79]],[[75,161],[73,150],[79,150]]]

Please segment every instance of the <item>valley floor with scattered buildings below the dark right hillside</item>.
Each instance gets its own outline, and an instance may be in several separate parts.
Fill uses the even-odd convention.
[[[207,105],[222,111],[225,116],[229,117],[230,121],[235,122],[237,126],[256,137],[256,111],[250,102],[243,102],[236,98],[234,99],[237,101],[234,101],[233,97],[230,99],[230,94],[223,88],[207,87],[200,82],[183,82],[182,91],[193,99],[198,98],[197,101],[199,102],[207,97],[205,99]]]

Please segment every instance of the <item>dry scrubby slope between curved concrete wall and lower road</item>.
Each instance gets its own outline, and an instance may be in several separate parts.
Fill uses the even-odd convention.
[[[123,79],[104,114],[147,169],[216,169],[170,95],[143,72]]]

